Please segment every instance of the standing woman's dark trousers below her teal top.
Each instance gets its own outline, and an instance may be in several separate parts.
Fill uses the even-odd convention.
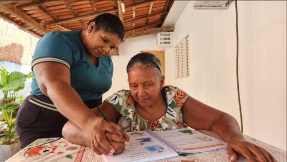
[[[62,137],[62,129],[68,119],[57,111],[35,105],[29,100],[53,104],[45,95],[29,95],[20,106],[16,118],[16,130],[20,138],[20,148],[24,148],[38,138]],[[101,98],[84,102],[90,109],[102,103]],[[77,114],[75,114],[77,115]]]

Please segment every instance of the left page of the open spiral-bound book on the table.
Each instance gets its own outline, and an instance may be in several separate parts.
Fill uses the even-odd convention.
[[[145,131],[127,132],[128,149],[118,155],[105,155],[106,161],[151,161],[178,156],[176,151]]]

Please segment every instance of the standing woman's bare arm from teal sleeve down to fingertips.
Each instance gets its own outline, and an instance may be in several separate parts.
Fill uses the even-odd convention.
[[[89,137],[97,154],[113,153],[105,132],[121,135],[103,117],[95,116],[71,87],[70,70],[63,64],[43,62],[33,67],[40,90],[48,96],[57,110],[81,128]]]

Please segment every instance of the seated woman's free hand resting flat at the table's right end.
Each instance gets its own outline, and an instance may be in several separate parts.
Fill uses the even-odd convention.
[[[236,161],[238,153],[248,159],[248,161],[277,161],[265,149],[254,145],[244,139],[232,139],[227,146],[231,161]]]

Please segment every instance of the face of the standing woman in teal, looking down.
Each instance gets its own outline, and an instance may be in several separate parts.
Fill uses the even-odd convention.
[[[85,39],[86,49],[89,55],[99,57],[110,54],[121,42],[117,34],[95,30],[95,23],[88,26]]]

